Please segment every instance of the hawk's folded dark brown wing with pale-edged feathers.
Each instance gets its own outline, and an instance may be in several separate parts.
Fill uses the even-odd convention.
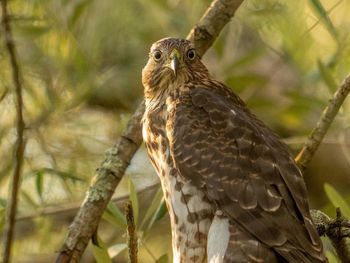
[[[325,260],[292,155],[236,95],[193,86],[166,126],[179,174],[218,209],[288,261]]]

